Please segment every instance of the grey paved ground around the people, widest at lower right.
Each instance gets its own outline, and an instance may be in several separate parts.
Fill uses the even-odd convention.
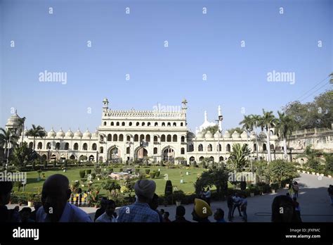
[[[301,218],[303,222],[333,222],[333,207],[330,206],[327,187],[333,184],[333,179],[328,177],[318,177],[316,175],[301,174],[296,179],[299,182],[299,203],[301,206]],[[265,194],[263,196],[254,196],[248,198],[247,216],[248,222],[270,222],[270,207],[275,196],[286,194],[287,189],[280,189],[277,194]],[[8,205],[13,208],[14,205]],[[22,208],[22,207],[21,207]],[[170,213],[170,219],[174,220],[176,206],[159,206]],[[222,208],[226,215],[228,208],[226,201],[217,201],[211,203],[213,212],[216,208]],[[93,218],[96,208],[82,208]],[[193,204],[185,205],[185,218],[192,221]],[[225,215],[225,216],[226,216]],[[211,216],[209,220],[214,221]],[[235,211],[234,222],[242,222]]]

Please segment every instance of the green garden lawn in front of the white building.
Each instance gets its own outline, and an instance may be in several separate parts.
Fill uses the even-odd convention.
[[[126,168],[126,167],[124,167]],[[63,172],[63,170],[46,170],[44,171],[45,177],[47,178],[50,175],[54,175],[55,173],[60,173],[66,175],[68,179],[71,181],[80,180],[79,177],[79,170],[83,169],[91,169],[91,172],[94,172],[92,168],[69,168],[67,172]],[[144,172],[145,169],[148,168],[140,168],[141,172]],[[164,194],[165,182],[164,175],[167,175],[168,179],[171,180],[172,184],[178,188],[178,190],[182,190],[186,193],[193,193],[195,191],[194,182],[197,180],[197,175],[203,172],[204,170],[200,168],[190,168],[186,169],[179,169],[179,168],[165,168],[165,167],[150,167],[150,171],[152,170],[161,170],[161,175],[158,178],[155,178],[156,182],[156,193],[157,194]],[[119,171],[119,168],[114,168],[114,172]],[[189,175],[186,175],[186,172],[189,172]],[[183,175],[183,177],[181,177]],[[37,171],[27,172],[27,185],[25,187],[25,191],[31,192],[39,192],[41,191],[41,187],[44,183],[44,178],[41,181],[37,181],[38,173]],[[183,179],[184,183],[181,184],[181,179]],[[102,181],[93,180],[94,183],[98,184]],[[86,190],[86,187],[81,187],[82,190]],[[214,188],[213,188],[214,189]],[[17,187],[14,189],[17,190]],[[22,190],[22,189],[21,189]],[[104,190],[100,190],[101,194],[106,193]]]

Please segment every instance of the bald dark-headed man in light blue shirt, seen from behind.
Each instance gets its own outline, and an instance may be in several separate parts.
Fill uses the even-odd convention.
[[[67,203],[72,191],[65,175],[51,175],[41,191],[41,203],[36,214],[37,222],[92,222],[88,214]]]

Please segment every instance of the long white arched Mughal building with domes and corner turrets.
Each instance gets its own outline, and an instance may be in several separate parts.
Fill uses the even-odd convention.
[[[267,148],[270,147],[272,160],[283,158],[282,142],[270,132],[270,145],[267,145],[265,132],[256,136],[255,132],[222,131],[222,121],[218,122],[219,132],[202,134],[202,130],[216,123],[207,120],[204,113],[204,123],[195,134],[188,131],[186,122],[187,101],[176,111],[114,111],[109,108],[109,101],[103,100],[102,120],[96,132],[82,133],[80,130],[58,132],[53,129],[46,137],[37,138],[35,150],[48,160],[87,159],[89,161],[122,162],[150,157],[151,161],[171,161],[175,158],[185,158],[187,163],[204,158],[218,162],[228,160],[233,144],[248,144],[252,150],[252,158],[256,159],[258,147],[259,158],[267,159]],[[216,118],[222,118],[218,106]],[[20,117],[15,113],[8,118],[6,128],[17,132],[22,140],[32,148],[34,139],[24,136]],[[25,131],[26,132],[26,131]],[[223,132],[223,134],[221,134]],[[312,144],[315,149],[332,151],[332,130],[308,130],[295,132],[287,141],[289,161],[296,161],[296,154],[303,152],[306,145]],[[302,160],[297,160],[302,161]],[[176,161],[177,163],[177,161]]]

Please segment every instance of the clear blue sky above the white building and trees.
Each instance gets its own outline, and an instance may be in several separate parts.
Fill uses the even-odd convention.
[[[0,0],[0,126],[16,108],[29,127],[93,131],[107,97],[119,110],[186,98],[192,130],[221,105],[223,128],[236,127],[242,107],[276,112],[332,72],[332,3]],[[67,84],[39,82],[44,70],[67,73]],[[272,70],[294,72],[295,84],[267,82]]]

